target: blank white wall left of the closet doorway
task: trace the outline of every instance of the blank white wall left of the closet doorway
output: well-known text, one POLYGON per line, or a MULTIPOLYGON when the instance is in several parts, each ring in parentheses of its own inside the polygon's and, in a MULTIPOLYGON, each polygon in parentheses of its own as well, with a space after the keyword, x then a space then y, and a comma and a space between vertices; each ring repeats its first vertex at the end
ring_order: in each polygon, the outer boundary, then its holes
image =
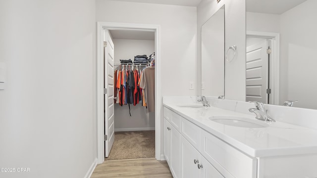
POLYGON ((94 0, 1 0, 5 178, 83 178, 97 157, 94 0))

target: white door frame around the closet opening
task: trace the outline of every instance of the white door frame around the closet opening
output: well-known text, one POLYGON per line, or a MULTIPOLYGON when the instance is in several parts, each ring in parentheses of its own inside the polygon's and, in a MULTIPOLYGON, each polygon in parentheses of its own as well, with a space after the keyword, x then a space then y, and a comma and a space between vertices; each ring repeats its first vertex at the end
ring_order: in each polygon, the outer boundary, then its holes
MULTIPOLYGON (((105 160, 104 153, 104 30, 133 30, 155 32, 155 158, 161 159, 161 91, 160 91, 160 26, 117 22, 97 22, 97 163, 105 160)), ((107 69, 105 69, 107 70, 107 69)))

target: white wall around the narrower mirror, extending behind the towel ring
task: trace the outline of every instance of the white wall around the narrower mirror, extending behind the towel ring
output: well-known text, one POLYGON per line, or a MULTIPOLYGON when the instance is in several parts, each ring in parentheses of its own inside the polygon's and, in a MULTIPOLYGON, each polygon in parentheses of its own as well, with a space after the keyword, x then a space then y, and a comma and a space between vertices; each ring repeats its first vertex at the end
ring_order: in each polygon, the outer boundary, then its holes
MULTIPOLYGON (((236 58, 225 63, 225 98, 245 100, 246 4, 245 0, 202 0, 197 7, 197 71, 201 71, 201 26, 225 4, 225 50, 237 45, 236 58)), ((201 77, 197 81, 200 85, 201 77)), ((198 93, 201 91, 198 90, 198 93)))

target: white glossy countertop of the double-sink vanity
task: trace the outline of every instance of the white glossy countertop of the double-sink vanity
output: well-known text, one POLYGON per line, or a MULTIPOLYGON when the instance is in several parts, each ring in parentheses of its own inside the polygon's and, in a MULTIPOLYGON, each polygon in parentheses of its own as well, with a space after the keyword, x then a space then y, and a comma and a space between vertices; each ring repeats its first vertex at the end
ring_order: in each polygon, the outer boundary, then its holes
POLYGON ((255 119, 255 115, 212 106, 202 108, 178 107, 178 105, 184 104, 187 103, 163 103, 165 107, 252 157, 317 153, 317 130, 279 121, 269 123, 269 126, 265 128, 228 126, 208 118, 223 115, 255 119))

